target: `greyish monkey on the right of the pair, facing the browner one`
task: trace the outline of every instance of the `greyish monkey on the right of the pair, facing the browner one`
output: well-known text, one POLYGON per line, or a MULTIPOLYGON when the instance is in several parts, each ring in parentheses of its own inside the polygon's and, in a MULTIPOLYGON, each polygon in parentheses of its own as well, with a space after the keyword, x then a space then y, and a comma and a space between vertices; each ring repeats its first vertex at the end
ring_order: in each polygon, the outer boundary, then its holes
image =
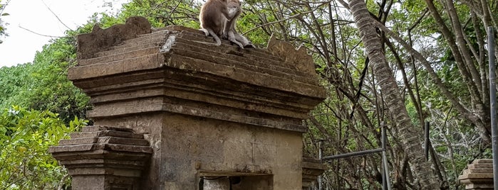
POLYGON ((247 38, 244 37, 244 35, 237 33, 237 30, 235 30, 235 24, 237 18, 239 18, 240 14, 242 13, 242 7, 240 1, 228 0, 227 6, 229 10, 229 16, 231 17, 230 20, 227 21, 226 26, 224 27, 223 38, 228 38, 228 40, 230 40, 231 42, 237 41, 238 43, 241 43, 242 46, 237 43, 236 44, 239 45, 242 49, 244 49, 244 47, 256 48, 251 43, 251 41, 247 40, 247 38))

